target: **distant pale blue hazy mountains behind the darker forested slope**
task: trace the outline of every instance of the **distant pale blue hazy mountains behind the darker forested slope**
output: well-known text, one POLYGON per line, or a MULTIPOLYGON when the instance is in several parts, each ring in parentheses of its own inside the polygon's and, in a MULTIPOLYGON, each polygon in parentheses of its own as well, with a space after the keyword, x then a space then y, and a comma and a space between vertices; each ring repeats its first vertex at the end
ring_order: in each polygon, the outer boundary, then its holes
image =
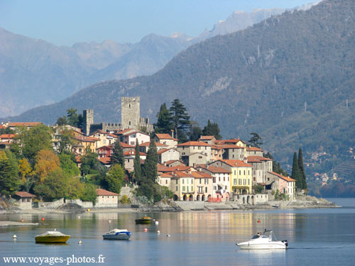
POLYGON ((183 33, 151 34, 139 43, 106 40, 58 47, 0 28, 0 117, 60 101, 103 80, 153 74, 194 43, 239 31, 283 11, 236 11, 195 38, 183 33))

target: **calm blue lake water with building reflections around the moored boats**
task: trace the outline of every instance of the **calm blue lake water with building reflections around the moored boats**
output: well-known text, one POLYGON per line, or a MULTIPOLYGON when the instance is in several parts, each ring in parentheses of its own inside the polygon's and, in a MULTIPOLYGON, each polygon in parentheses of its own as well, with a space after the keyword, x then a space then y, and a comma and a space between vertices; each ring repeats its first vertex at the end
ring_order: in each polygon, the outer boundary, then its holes
MULTIPOLYGON (((0 220, 41 222, 44 225, 0 228, 0 265, 4 257, 105 257, 104 263, 70 265, 355 265, 355 199, 330 199, 344 208, 272 211, 195 211, 179 213, 84 213, 0 215, 0 220), (158 226, 136 225, 148 215, 158 226), (261 223, 257 221, 260 219, 261 223), (111 228, 133 232, 129 241, 102 240, 111 228), (67 245, 35 244, 39 233, 57 228, 72 235, 67 245), (148 228, 148 232, 143 229, 148 228), (240 250, 263 228, 273 229, 288 250, 240 250), (156 231, 161 233, 158 235, 156 231), (16 233, 17 240, 12 236, 16 233), (166 235, 170 234, 170 237, 166 235), (79 245, 78 241, 82 240, 79 245)), ((80 262, 80 260, 77 260, 80 262)), ((43 263, 48 265, 48 263, 43 263)), ((54 265, 65 265, 56 263, 54 265)))

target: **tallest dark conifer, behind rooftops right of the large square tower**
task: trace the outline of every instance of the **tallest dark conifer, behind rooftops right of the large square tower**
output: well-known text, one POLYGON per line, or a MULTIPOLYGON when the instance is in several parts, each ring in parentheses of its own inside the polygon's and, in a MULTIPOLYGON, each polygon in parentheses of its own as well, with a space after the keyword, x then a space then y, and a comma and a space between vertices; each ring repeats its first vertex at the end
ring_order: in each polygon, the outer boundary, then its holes
POLYGON ((187 132, 190 129, 190 116, 186 112, 186 108, 180 103, 179 99, 172 101, 170 107, 170 116, 173 119, 173 129, 176 137, 180 142, 187 141, 187 132))

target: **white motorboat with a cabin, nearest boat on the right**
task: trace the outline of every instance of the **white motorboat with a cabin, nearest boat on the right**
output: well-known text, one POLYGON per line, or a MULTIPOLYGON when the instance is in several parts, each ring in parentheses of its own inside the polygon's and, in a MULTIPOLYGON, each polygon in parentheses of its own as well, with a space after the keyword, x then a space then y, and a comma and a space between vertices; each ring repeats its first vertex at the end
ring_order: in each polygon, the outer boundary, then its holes
POLYGON ((273 240, 273 231, 266 230, 257 233, 251 240, 236 243, 242 250, 268 250, 268 249, 287 249, 288 240, 273 240))

